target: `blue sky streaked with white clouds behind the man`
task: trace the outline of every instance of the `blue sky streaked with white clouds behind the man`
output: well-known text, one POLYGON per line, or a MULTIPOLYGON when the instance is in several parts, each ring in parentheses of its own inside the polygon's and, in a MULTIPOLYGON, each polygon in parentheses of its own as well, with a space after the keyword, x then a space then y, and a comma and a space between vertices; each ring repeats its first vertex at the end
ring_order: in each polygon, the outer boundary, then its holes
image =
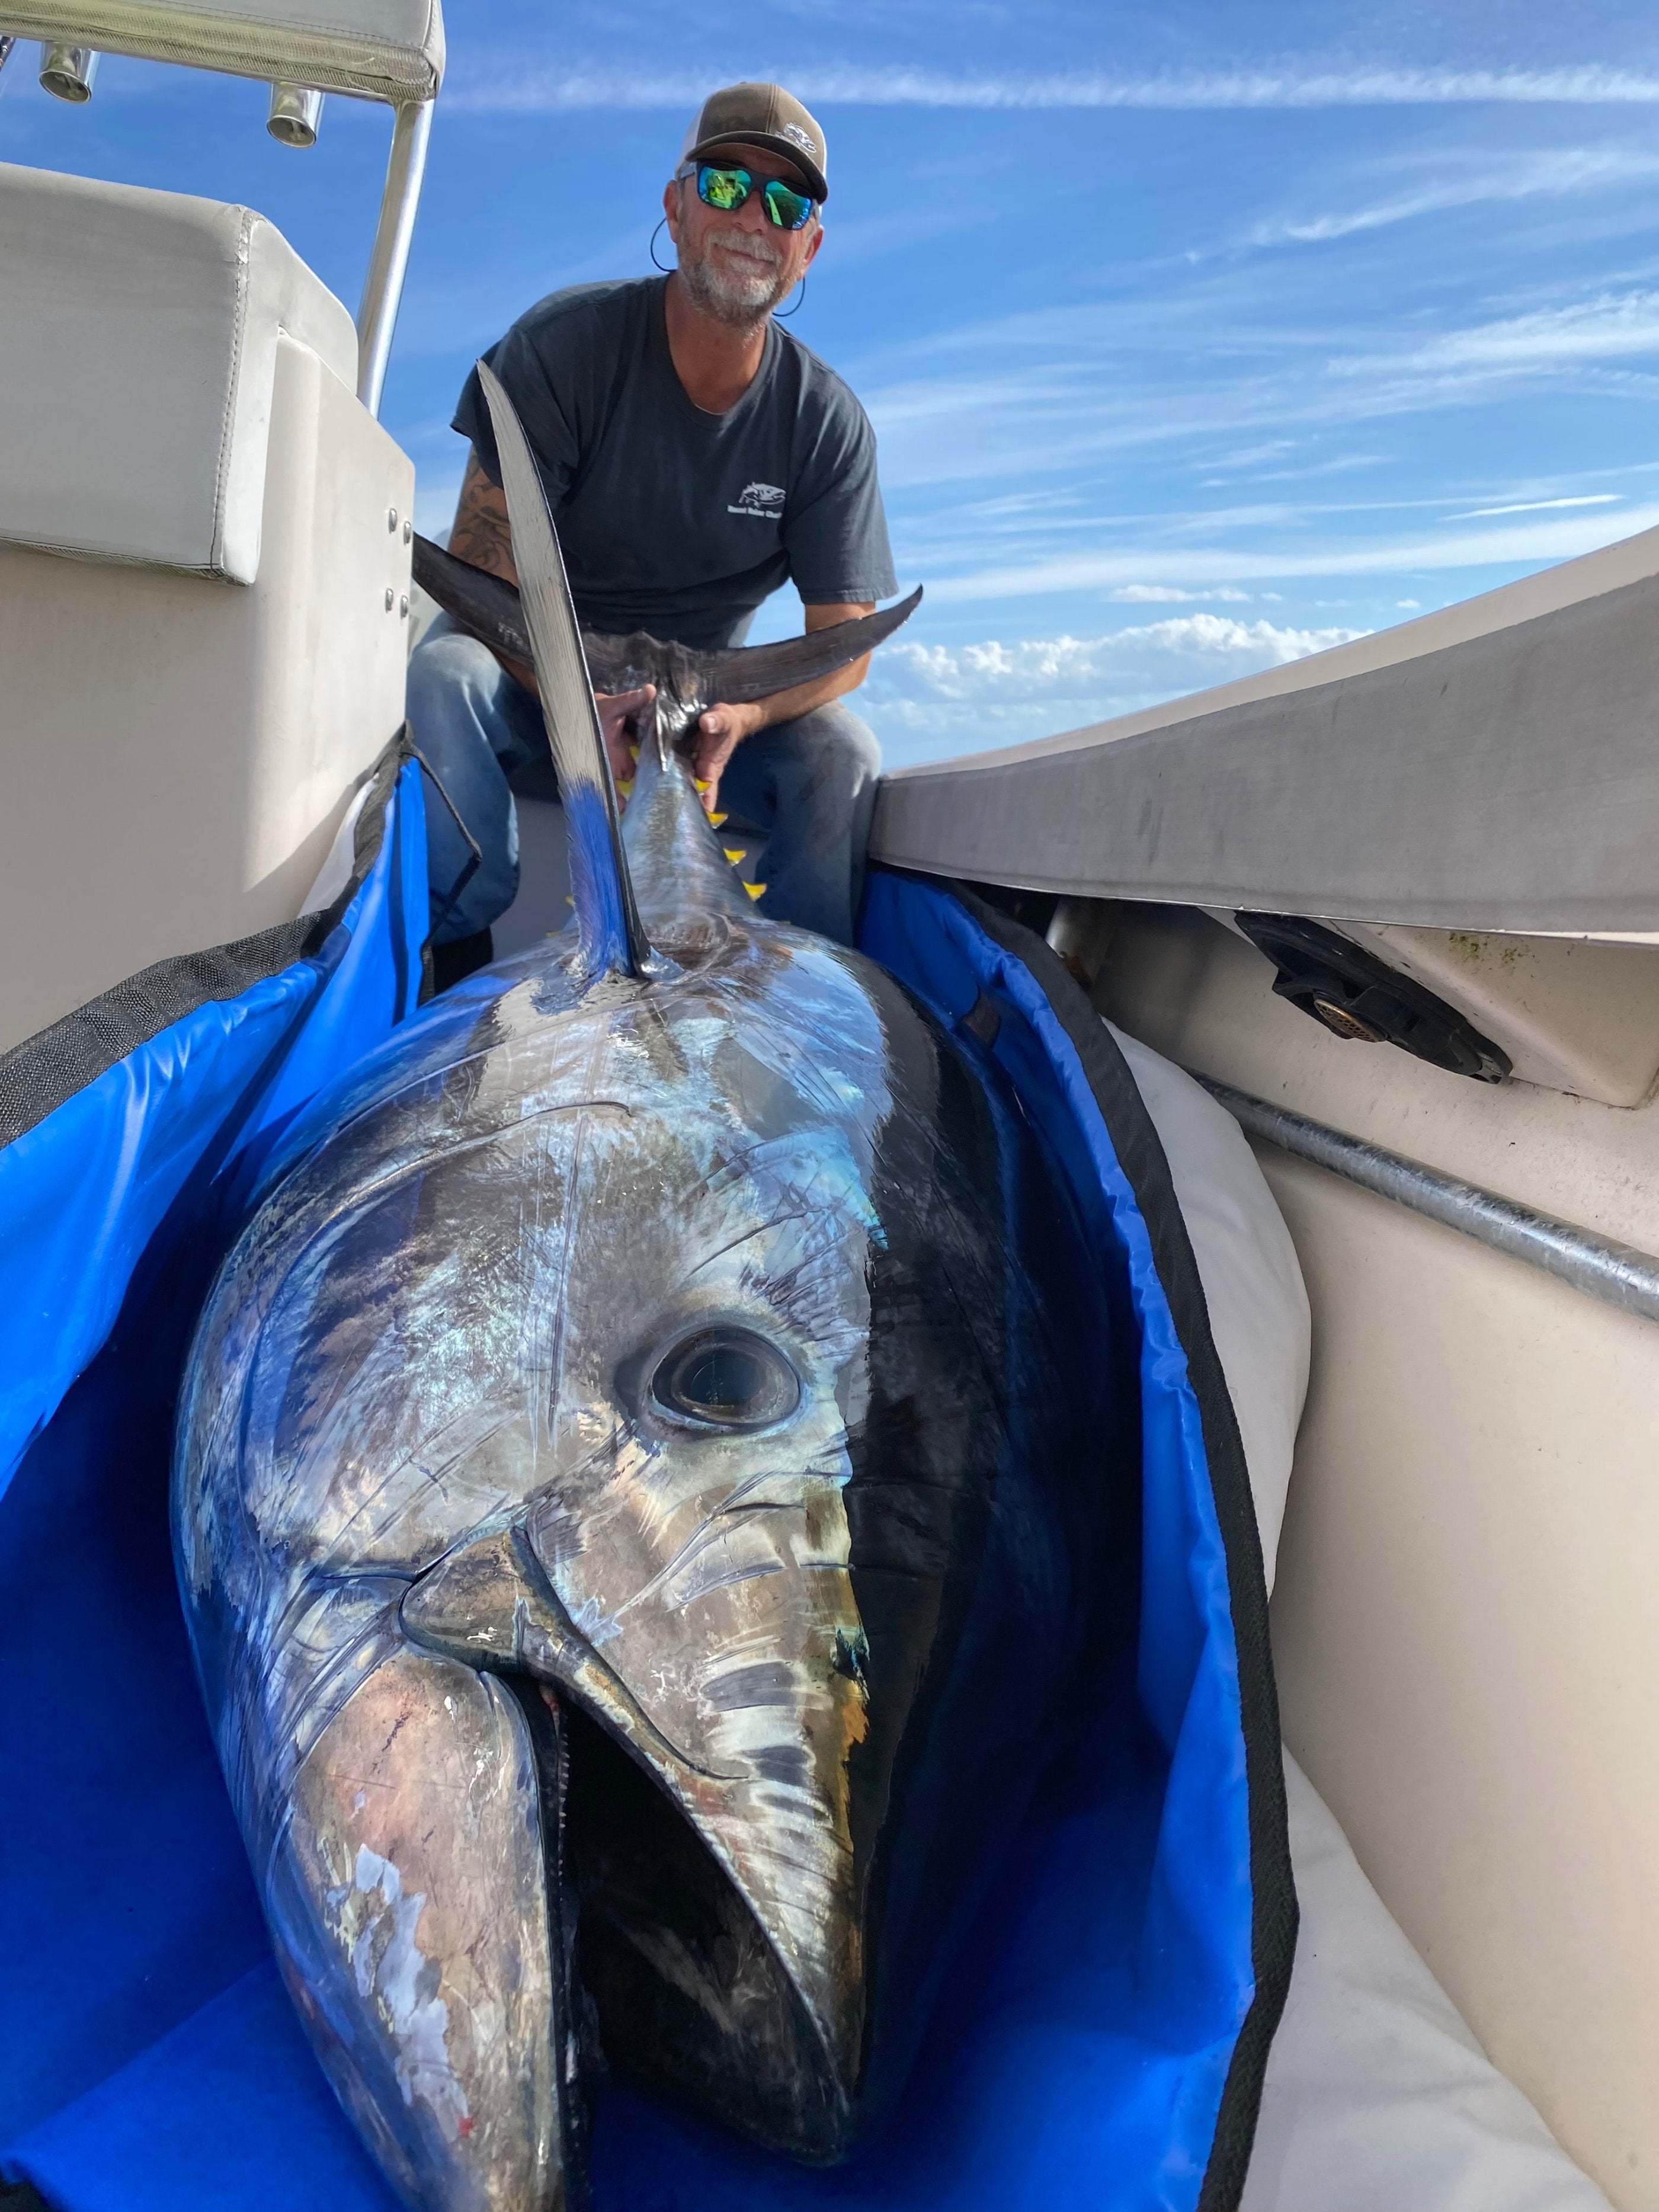
MULTIPOLYGON (((1659 524, 1659 11, 1460 0, 449 7, 383 418, 447 520, 473 354, 648 268, 699 95, 830 135, 794 330, 880 436, 927 604, 889 761, 1073 728, 1659 524)), ((243 199, 356 303, 389 119, 111 62, 0 75, 0 159, 243 199)), ((22 64, 22 66, 20 66, 22 64)), ((754 635, 799 626, 774 602, 754 635)))

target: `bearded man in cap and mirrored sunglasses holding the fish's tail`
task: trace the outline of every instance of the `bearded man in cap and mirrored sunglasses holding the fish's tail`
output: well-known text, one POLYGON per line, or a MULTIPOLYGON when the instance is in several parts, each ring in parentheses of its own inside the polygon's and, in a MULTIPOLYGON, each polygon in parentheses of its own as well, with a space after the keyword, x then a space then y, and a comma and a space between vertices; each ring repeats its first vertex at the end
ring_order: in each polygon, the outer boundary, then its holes
MULTIPOLYGON (((898 588, 869 420, 772 321, 823 246, 825 197, 823 131, 801 102, 776 84, 728 86, 703 102, 664 188, 677 270, 553 292, 484 356, 535 451, 584 628, 730 646, 785 580, 807 630, 898 588)), ((456 429, 471 453, 449 549, 518 582, 476 374, 456 429)), ((867 666, 712 706, 695 739, 703 805, 728 816, 728 841, 765 838, 761 911, 843 945, 880 757, 841 697, 867 666)), ((489 925, 518 889, 511 785, 551 774, 533 684, 447 619, 409 661, 445 978, 489 958, 489 925)), ((599 701, 619 781, 650 697, 599 701)))

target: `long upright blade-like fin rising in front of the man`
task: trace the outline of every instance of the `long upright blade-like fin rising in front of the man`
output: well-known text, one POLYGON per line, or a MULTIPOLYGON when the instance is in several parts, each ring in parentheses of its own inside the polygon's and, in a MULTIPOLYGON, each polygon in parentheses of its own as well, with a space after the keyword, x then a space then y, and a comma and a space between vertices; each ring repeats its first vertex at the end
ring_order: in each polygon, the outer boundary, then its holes
POLYGON ((495 427, 524 628, 535 659, 542 719, 564 803, 577 969, 584 975, 604 975, 613 969, 648 975, 653 971, 650 940, 639 922, 628 880, 599 710, 593 703, 582 633, 575 624, 571 584, 564 575, 564 555, 553 531, 542 473, 513 403, 482 361, 478 363, 478 380, 484 387, 489 420, 495 427))

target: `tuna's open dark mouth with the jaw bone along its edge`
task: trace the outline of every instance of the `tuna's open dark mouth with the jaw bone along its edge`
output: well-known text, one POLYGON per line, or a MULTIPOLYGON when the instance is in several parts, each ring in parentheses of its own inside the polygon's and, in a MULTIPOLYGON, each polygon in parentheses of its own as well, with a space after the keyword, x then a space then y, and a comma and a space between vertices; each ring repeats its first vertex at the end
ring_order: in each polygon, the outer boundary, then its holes
MULTIPOLYGON (((750 1776, 699 1761, 639 1705, 560 1604, 524 1533, 473 1537, 403 1599, 405 1635, 511 1681, 538 1741, 549 1885, 575 1898, 555 2013, 586 2022, 606 2066, 810 2163, 852 2143, 863 1978, 792 1971, 765 1896, 699 1812, 750 1776), (818 1984, 810 2000, 805 1980, 818 1984)), ((557 1898, 549 1900, 557 1907, 557 1898)), ((825 1960, 858 1960, 858 1929, 825 1916, 825 1960)), ((818 1962, 823 1964, 823 1962, 818 1962)), ((557 1971, 557 1969, 555 1969, 557 1971)), ((588 2053, 593 2055, 593 2053, 588 2053)))

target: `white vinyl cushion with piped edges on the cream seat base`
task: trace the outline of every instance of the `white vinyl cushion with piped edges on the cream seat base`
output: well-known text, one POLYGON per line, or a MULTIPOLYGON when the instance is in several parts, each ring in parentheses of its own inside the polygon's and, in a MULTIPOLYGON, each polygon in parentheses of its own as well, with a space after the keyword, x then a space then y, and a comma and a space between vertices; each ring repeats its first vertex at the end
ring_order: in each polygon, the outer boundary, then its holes
POLYGON ((252 584, 276 334, 356 330, 263 215, 0 164, 0 538, 252 584))

